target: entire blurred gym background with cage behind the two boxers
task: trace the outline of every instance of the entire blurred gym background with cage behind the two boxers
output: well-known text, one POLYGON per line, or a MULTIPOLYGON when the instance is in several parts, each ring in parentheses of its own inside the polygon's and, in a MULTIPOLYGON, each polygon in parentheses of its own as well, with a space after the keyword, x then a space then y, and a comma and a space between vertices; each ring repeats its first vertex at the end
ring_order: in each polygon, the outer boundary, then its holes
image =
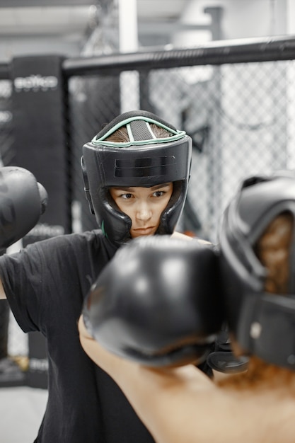
MULTIPOLYGON (((50 195, 8 252, 96 227, 81 146, 135 108, 192 136, 178 229, 216 243, 243 178, 295 166, 294 58, 293 0, 0 0, 0 164, 30 169, 50 195)), ((19 330, 5 301, 0 325, 0 439, 32 442, 45 343, 19 330)))

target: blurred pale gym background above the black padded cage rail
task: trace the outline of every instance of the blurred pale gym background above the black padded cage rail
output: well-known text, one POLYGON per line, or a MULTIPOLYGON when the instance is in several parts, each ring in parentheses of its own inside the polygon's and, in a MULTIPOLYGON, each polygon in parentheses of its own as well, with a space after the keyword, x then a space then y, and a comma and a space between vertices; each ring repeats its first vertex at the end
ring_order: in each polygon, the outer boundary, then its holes
POLYGON ((136 39, 139 48, 190 47, 293 31, 292 0, 0 0, 2 60, 16 54, 108 53, 123 40, 134 45, 136 39), (206 8, 221 8, 220 35, 210 28, 206 8), (129 30, 121 41, 120 21, 127 21, 129 30))

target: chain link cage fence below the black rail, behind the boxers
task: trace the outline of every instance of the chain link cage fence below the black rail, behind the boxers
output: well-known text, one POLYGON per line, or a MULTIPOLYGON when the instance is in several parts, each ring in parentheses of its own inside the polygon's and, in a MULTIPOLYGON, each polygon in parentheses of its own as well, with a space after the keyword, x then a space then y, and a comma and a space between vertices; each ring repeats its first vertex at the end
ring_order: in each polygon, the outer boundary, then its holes
MULTIPOLYGON (((110 57, 110 68, 111 63, 110 57)), ((129 70, 126 62, 117 74, 98 69, 95 75, 70 77, 69 142, 81 229, 95 226, 84 210, 81 146, 138 103, 192 136, 190 186, 178 229, 216 243, 224 209, 243 178, 295 167, 294 69, 293 60, 180 67, 166 62, 165 69, 151 63, 144 71, 129 70)))

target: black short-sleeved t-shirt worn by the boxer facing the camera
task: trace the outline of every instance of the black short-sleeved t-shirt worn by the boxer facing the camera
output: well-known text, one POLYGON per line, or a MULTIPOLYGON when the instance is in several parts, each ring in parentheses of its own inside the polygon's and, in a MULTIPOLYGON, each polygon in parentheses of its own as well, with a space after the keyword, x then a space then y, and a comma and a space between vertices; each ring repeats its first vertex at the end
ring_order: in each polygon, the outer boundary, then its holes
POLYGON ((47 338, 48 402, 35 442, 151 443, 117 384, 83 351, 77 322, 83 300, 115 246, 100 231, 33 243, 0 257, 16 321, 47 338))

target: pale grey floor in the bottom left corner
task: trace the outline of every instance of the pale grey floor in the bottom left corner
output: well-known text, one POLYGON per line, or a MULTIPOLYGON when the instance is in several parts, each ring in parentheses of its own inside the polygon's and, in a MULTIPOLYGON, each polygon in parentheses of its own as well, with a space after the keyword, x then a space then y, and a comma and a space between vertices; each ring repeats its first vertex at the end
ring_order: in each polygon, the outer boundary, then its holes
POLYGON ((33 443, 46 402, 45 389, 0 388, 0 442, 33 443))

